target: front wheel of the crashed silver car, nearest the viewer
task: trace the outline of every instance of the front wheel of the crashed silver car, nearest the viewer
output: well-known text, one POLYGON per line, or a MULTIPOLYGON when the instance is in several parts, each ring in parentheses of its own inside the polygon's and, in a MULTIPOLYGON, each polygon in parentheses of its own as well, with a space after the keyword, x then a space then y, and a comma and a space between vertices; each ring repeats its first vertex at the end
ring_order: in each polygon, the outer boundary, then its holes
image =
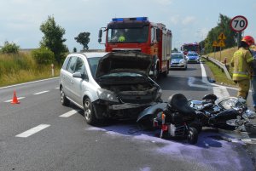
POLYGON ((95 125, 98 123, 95 111, 89 98, 85 98, 84 100, 84 118, 86 123, 89 123, 90 125, 95 125))

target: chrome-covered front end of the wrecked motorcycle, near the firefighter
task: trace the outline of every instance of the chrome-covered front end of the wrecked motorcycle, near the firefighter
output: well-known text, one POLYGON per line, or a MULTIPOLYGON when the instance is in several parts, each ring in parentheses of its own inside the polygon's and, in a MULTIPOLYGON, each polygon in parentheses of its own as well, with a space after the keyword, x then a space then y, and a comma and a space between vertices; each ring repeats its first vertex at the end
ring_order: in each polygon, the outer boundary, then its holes
POLYGON ((246 100, 241 97, 219 99, 215 94, 207 94, 202 100, 189 100, 202 126, 223 129, 245 129, 256 134, 256 125, 251 122, 255 112, 247 108, 246 100))

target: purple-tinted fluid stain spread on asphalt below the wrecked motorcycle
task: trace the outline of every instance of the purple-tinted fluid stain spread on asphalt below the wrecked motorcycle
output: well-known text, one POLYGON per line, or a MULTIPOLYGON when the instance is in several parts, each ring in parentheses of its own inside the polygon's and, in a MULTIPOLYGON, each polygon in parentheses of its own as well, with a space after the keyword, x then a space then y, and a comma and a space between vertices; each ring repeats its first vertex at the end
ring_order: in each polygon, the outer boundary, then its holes
MULTIPOLYGON (((242 141, 226 134, 202 131, 197 144, 189 145, 186 140, 160 139, 156 131, 143 131, 134 124, 115 124, 108 127, 90 127, 86 130, 102 131, 113 136, 127 136, 132 140, 160 143, 152 151, 176 157, 179 160, 201 163, 217 170, 254 170, 253 162, 244 150, 242 141), (237 140, 236 140, 237 141, 237 140)), ((147 170, 147 169, 146 169, 147 170)))

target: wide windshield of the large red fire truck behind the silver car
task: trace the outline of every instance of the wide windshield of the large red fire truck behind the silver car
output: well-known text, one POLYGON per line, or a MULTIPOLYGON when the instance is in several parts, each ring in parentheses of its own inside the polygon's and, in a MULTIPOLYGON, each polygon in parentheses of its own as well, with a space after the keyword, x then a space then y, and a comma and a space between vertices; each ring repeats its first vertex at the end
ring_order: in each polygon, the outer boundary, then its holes
POLYGON ((148 26, 108 29, 108 43, 146 43, 147 41, 148 26))

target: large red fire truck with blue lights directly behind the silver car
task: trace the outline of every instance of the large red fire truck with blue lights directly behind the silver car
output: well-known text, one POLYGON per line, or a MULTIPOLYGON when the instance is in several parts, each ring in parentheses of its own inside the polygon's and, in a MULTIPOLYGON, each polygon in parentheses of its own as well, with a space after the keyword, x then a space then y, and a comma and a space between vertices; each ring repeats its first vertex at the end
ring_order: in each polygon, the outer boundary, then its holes
POLYGON ((113 18, 107 27, 99 31, 99 43, 102 43, 102 31, 106 31, 105 50, 139 51, 151 54, 154 64, 150 75, 155 79, 160 73, 167 76, 172 50, 172 31, 161 23, 153 23, 148 17, 113 18))

